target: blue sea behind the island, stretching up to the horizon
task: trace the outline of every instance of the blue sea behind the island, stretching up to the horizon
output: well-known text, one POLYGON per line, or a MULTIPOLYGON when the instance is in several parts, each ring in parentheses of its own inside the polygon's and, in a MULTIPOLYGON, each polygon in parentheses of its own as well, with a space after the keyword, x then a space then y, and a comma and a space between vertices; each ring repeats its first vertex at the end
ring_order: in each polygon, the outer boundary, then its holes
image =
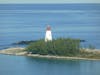
POLYGON ((0 49, 12 43, 53 38, 85 40, 100 49, 100 4, 0 4, 0 49))

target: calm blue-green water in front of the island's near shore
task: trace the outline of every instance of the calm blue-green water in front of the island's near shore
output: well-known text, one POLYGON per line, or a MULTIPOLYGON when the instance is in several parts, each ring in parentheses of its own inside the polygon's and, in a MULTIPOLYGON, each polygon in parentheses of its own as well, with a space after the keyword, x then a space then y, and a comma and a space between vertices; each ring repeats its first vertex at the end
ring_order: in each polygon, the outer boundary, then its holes
POLYGON ((0 75, 100 75, 100 61, 0 55, 0 75))

